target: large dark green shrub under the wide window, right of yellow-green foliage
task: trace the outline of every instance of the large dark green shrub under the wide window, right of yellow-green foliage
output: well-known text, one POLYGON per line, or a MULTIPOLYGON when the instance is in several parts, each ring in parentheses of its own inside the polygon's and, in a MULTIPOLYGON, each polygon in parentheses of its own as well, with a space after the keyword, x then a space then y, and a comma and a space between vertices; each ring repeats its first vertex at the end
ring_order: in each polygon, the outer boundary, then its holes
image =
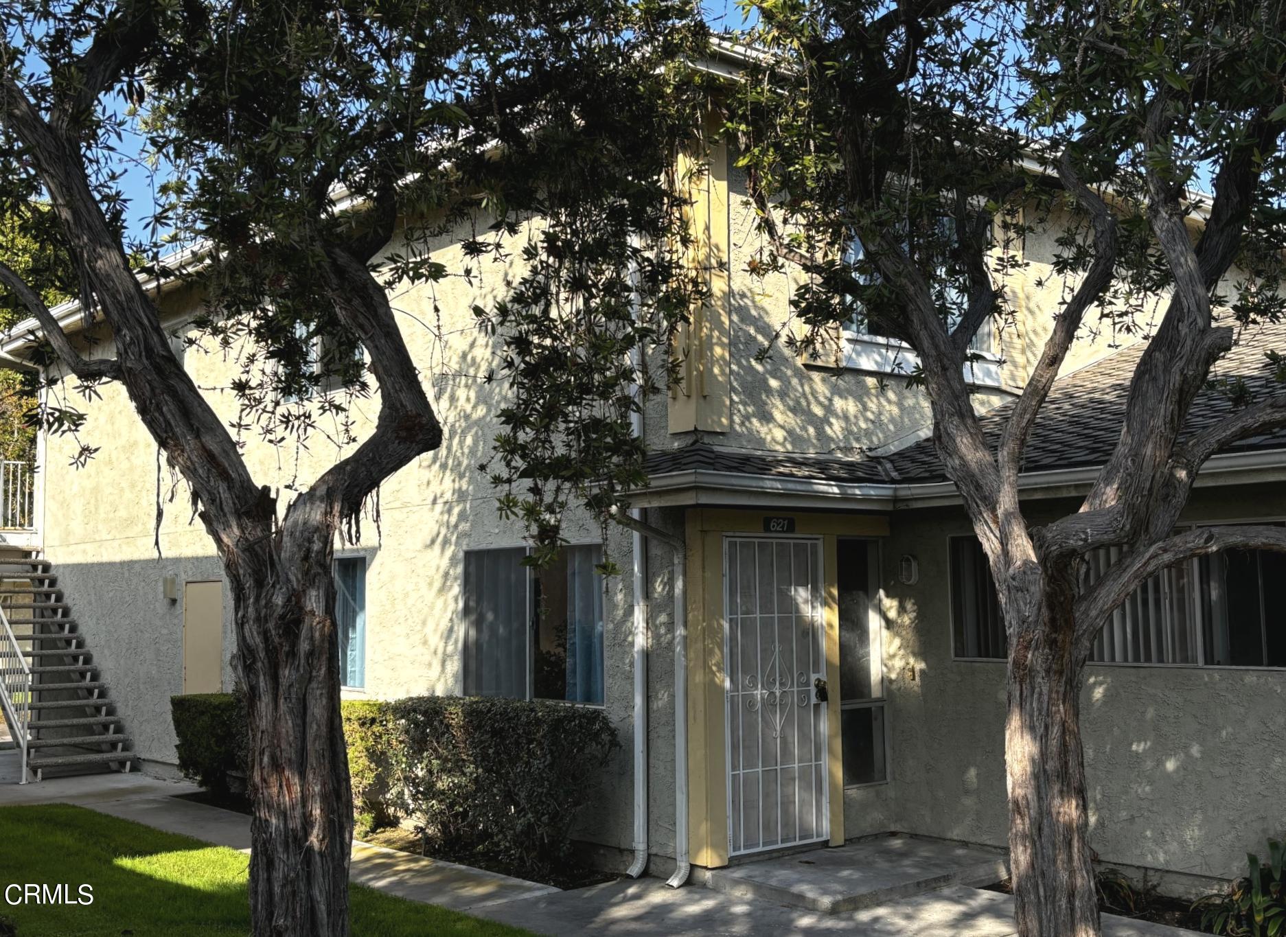
POLYGON ((399 784, 431 851, 541 874, 567 857, 589 780, 617 745, 602 709, 413 697, 391 704, 399 784))

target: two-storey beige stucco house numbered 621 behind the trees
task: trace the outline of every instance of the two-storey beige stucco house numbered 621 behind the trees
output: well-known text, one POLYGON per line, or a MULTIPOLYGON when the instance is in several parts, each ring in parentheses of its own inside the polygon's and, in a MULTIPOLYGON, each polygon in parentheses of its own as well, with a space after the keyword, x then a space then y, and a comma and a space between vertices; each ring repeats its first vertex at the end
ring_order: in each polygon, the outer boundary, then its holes
MULTIPOLYGON (((493 339, 469 308, 502 287, 500 272, 440 284, 435 330, 424 289, 394 292, 446 438, 382 487, 378 533, 368 524, 360 544, 338 548, 345 693, 603 707, 626 744, 586 778, 597 793, 581 835, 615 868, 682 878, 689 864, 889 830, 1003 846, 1003 629, 927 440, 926 401, 905 379, 913 355, 855 317, 833 337, 833 360, 783 347, 757 356, 788 321, 796 272, 747 272, 746 180, 723 143, 707 168, 693 213, 711 294, 683 335, 682 388, 639 419, 651 452, 651 485, 634 501, 642 524, 604 536, 574 523, 561 562, 538 575, 476 469, 505 388, 460 377, 486 371, 493 339), (626 575, 599 577, 604 553, 626 575)), ((1061 288, 1052 236, 1007 249, 1028 263, 1006 283, 1017 316, 970 365, 993 433, 1061 288)), ((460 262, 454 245, 436 260, 460 262)), ((233 355, 184 341, 199 294, 157 289, 175 353, 233 419, 233 355)), ((77 308, 57 312, 85 353, 112 355, 111 335, 77 308)), ((33 334, 24 324, 0 351, 30 362, 33 334)), ((1143 342, 1106 328, 1078 341, 1029 447, 1031 517, 1066 512, 1088 488, 1143 342)), ((1283 344, 1286 326, 1242 334, 1219 373, 1267 382, 1262 351, 1283 344)), ((44 767, 172 770, 170 697, 235 681, 230 603, 181 479, 121 387, 75 405, 87 420, 76 437, 41 440, 28 515, 3 533, 5 569, 45 607, 26 617, 64 634, 33 658, 58 675, 37 695, 58 703, 41 717, 82 720, 86 734, 120 726, 129 742, 44 767), (81 445, 98 452, 77 468, 81 445)), ((1211 392, 1195 419, 1229 406, 1211 392)), ((359 436, 372 414, 358 402, 359 436)), ((246 458, 256 479, 287 488, 334 451, 247 438, 246 458)), ((1240 445, 1210 460, 1186 523, 1276 523, 1283 481, 1286 437, 1240 445)), ((1105 630, 1083 701, 1092 842, 1105 861, 1228 877, 1281 832, 1286 754, 1265 742, 1286 731, 1283 572, 1286 558, 1271 554, 1193 562, 1148 582, 1105 630)))

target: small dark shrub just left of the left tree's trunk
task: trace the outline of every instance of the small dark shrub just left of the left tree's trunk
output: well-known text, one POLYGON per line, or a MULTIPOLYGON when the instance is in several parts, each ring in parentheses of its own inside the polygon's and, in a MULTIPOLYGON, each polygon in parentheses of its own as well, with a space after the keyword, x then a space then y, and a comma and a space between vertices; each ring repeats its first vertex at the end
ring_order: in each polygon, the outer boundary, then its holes
POLYGON ((246 776, 249 727, 238 693, 194 693, 170 697, 170 716, 179 736, 179 769, 207 790, 233 792, 246 776))

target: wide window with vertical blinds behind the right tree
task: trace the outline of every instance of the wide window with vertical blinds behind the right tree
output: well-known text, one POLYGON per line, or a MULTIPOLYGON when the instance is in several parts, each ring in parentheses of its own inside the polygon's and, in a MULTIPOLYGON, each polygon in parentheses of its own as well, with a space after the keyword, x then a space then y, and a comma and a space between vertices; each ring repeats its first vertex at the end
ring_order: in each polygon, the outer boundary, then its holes
MULTIPOLYGON (((1118 548, 1088 558, 1094 582, 1118 548)), ((983 546, 950 540, 955 657, 1003 659, 1004 626, 983 546)), ((1118 608, 1094 639, 1097 663, 1286 667, 1286 555, 1226 550, 1163 569, 1118 608)))

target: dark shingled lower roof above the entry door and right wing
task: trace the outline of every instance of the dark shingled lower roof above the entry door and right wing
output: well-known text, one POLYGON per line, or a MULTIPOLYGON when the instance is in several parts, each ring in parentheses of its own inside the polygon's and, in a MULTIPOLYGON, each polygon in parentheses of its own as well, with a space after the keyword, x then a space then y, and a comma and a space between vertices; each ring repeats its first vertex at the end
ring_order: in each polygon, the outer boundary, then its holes
MULTIPOLYGON (((1134 342, 1055 382, 1026 446, 1022 465, 1025 476, 1093 470, 1107 460, 1120 436, 1134 368, 1146 347, 1146 341, 1134 342)), ((1274 350, 1286 351, 1286 323, 1247 329, 1238 335, 1233 350, 1215 365, 1213 377, 1238 379, 1256 398, 1281 393, 1283 388, 1274 380, 1273 368, 1265 357, 1265 352, 1274 350)), ((1011 401, 980 418, 983 432, 993 449, 1013 406, 1015 402, 1011 401)), ((1192 404, 1184 437, 1217 424, 1236 409, 1237 405, 1218 387, 1202 389, 1192 404)), ((1258 468, 1268 463, 1286 467, 1286 429, 1244 440, 1222 450, 1219 455, 1233 454, 1264 454, 1267 460, 1255 460, 1258 468), (1280 452, 1281 458, 1268 456, 1272 452, 1280 452)), ((653 486, 661 487, 667 487, 666 477, 678 481, 679 476, 696 478, 696 474, 706 473, 705 477, 709 478, 714 473, 769 482, 817 482, 832 488, 853 486, 854 496, 860 497, 863 491, 869 491, 895 500, 913 499, 917 486, 940 488, 943 483, 949 483, 931 440, 910 443, 882 456, 860 455, 851 459, 732 450, 697 442, 683 449, 651 452, 647 470, 653 486)), ((779 490, 781 486, 777 487, 779 490)), ((835 490, 835 495, 840 494, 835 490)))

